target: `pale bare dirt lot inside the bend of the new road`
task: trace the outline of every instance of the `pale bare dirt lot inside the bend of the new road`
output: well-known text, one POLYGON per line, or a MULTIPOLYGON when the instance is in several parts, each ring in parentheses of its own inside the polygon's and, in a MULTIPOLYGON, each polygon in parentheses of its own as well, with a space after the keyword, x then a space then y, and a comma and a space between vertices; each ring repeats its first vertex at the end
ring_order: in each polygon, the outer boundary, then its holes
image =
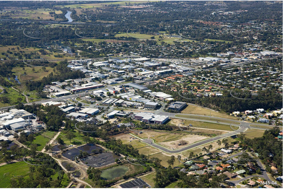
POLYGON ((209 138, 209 137, 202 136, 202 135, 190 135, 189 134, 189 135, 184 135, 184 136, 178 137, 176 139, 172 139, 172 140, 162 142, 162 143, 159 143, 159 144, 162 145, 162 146, 165 146, 169 149, 171 149, 171 148, 177 149, 177 148, 181 148, 183 146, 187 146, 189 144, 192 144, 192 143, 195 143, 197 141, 204 140, 204 139, 207 139, 207 138, 209 138), (185 141, 186 144, 178 145, 182 141, 185 141))

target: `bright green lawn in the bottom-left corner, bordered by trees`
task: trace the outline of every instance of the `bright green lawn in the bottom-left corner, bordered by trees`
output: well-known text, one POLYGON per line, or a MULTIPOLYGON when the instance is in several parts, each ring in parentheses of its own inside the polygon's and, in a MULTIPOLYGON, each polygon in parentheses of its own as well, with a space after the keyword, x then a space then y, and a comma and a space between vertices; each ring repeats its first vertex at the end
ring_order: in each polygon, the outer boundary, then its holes
POLYGON ((23 161, 0 166, 0 187, 11 188, 10 179, 14 176, 29 178, 29 165, 23 161))

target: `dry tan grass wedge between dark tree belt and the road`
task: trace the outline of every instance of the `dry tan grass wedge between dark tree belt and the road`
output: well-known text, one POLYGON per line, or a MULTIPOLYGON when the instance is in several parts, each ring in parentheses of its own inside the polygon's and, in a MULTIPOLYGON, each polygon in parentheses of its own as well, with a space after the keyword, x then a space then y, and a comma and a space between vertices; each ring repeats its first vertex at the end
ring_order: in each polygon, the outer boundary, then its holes
POLYGON ((239 118, 235 116, 230 116, 225 113, 219 113, 219 112, 214 112, 206 108, 198 107, 198 106, 193 106, 193 105, 188 105, 181 113, 191 113, 191 114, 198 114, 198 115, 205 115, 205 116, 215 116, 215 117, 222 117, 222 118, 228 118, 232 120, 239 120, 239 118))

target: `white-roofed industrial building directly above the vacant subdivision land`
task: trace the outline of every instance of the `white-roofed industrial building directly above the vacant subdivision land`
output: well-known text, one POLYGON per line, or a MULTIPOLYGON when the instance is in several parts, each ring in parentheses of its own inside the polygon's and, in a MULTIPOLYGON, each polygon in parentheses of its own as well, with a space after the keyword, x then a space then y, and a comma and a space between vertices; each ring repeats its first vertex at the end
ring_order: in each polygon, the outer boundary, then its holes
POLYGON ((135 119, 146 123, 164 124, 169 120, 169 116, 156 115, 151 112, 140 112, 135 115, 135 119))

